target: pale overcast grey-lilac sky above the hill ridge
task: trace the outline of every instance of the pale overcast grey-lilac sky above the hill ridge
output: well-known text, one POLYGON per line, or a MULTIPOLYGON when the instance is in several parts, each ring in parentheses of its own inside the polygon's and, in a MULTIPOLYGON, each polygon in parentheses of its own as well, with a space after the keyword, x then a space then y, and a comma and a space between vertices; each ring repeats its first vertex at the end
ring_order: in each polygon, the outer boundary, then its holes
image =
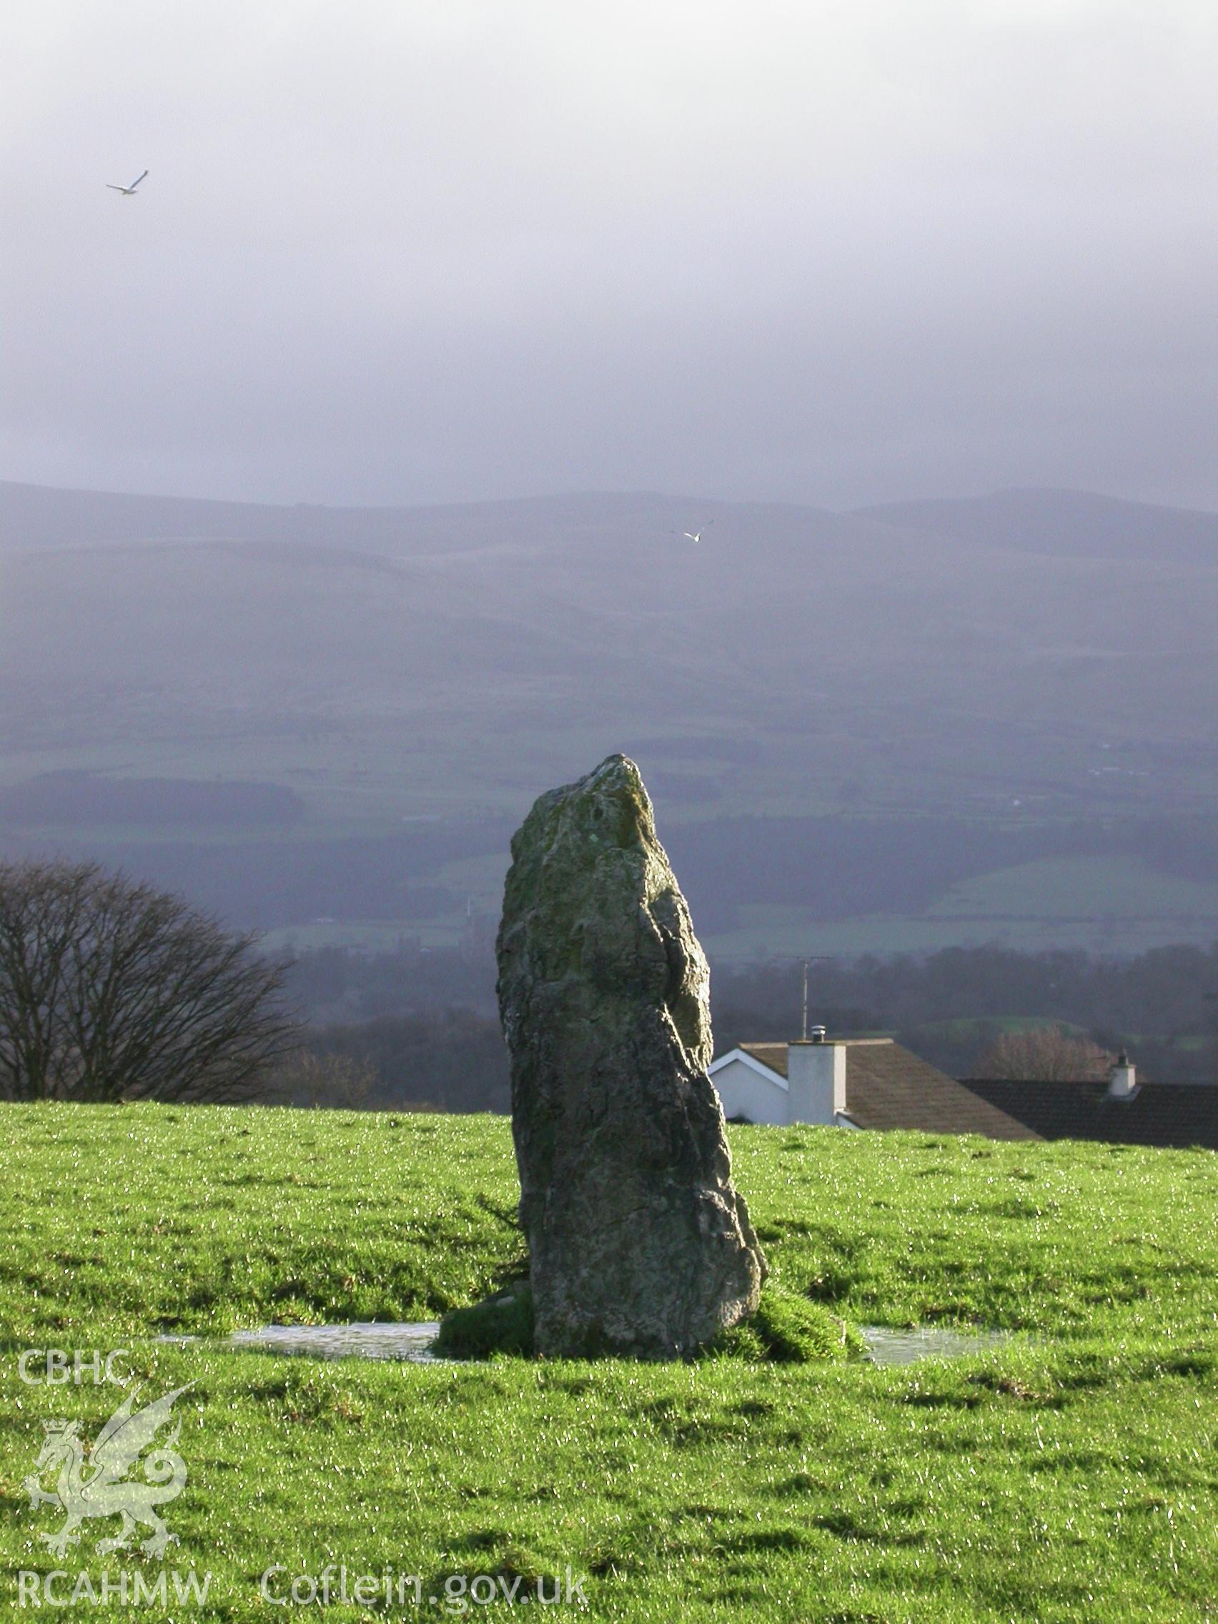
POLYGON ((1213 0, 39 0, 5 58, 5 477, 1218 508, 1213 0))

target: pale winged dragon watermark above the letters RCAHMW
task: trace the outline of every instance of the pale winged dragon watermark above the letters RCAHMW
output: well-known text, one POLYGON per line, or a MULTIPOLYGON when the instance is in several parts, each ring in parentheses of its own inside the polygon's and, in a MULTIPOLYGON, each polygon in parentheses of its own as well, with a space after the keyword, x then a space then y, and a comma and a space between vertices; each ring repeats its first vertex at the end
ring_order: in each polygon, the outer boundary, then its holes
POLYGON ((177 1538, 169 1533, 156 1507, 177 1499, 185 1488, 187 1466, 175 1449, 182 1419, 174 1421, 172 1432, 156 1449, 148 1445, 171 1421, 174 1400, 193 1385, 187 1382, 187 1387, 175 1387, 172 1393, 136 1410, 135 1415, 132 1408, 138 1392, 130 1392, 94 1439, 88 1465, 75 1421, 42 1423, 47 1437, 34 1471, 21 1488, 29 1494, 31 1507, 58 1505, 67 1512, 68 1520, 58 1533, 39 1535, 57 1557, 63 1559, 68 1546, 80 1541, 76 1530, 86 1517, 122 1517, 119 1533, 112 1540, 99 1540, 97 1551, 127 1549, 138 1523, 153 1530, 140 1541, 140 1549, 148 1556, 161 1556, 169 1541, 177 1538), (143 1466, 145 1483, 127 1479, 127 1473, 136 1463, 143 1466), (39 1481, 49 1471, 57 1473, 50 1492, 39 1481))

